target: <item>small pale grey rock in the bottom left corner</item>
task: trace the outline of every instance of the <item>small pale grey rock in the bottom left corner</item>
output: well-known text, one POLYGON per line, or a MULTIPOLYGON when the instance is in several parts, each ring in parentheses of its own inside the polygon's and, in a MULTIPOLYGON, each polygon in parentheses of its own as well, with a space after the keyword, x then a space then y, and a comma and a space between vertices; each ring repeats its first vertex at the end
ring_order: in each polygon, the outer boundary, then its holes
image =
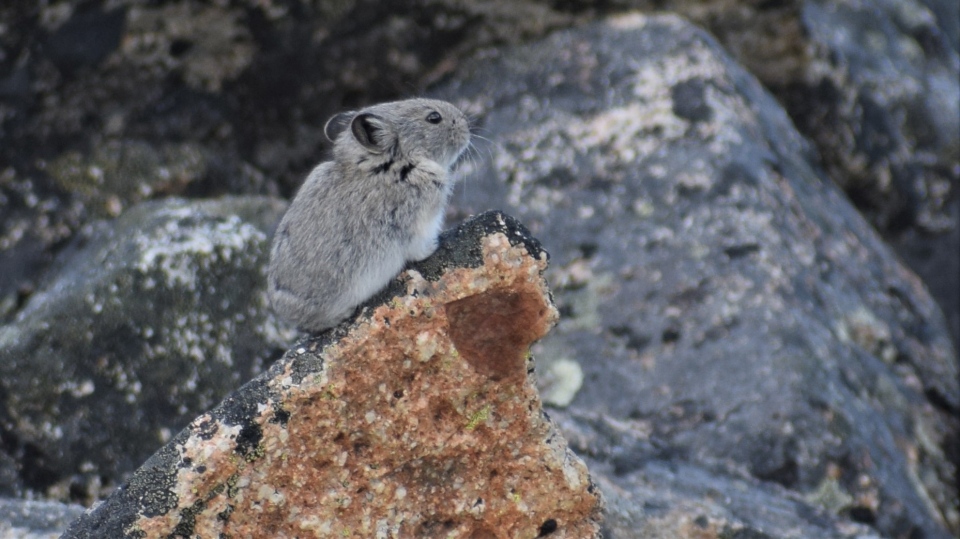
POLYGON ((0 539, 56 539, 83 511, 79 505, 0 498, 0 539))

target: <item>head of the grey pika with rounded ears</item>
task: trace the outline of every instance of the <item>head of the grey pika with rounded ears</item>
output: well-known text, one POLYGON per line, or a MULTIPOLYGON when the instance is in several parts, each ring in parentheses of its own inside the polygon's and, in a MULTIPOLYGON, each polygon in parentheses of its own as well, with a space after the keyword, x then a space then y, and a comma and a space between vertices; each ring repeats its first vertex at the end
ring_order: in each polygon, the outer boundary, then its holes
MULTIPOLYGON (((332 117, 324 134, 334 153, 366 152, 390 161, 433 161, 449 169, 470 143, 470 126, 457 107, 436 99, 383 103, 332 117)), ((346 155, 340 155, 346 154, 346 155)))

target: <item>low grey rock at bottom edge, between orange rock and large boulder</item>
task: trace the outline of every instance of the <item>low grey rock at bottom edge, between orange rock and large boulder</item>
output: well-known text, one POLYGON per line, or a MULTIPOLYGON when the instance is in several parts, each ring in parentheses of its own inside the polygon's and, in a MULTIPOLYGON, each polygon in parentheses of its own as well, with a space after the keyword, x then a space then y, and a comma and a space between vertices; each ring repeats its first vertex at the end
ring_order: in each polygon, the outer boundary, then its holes
POLYGON ((568 412, 554 416, 571 448, 606 457, 585 459, 604 494, 604 537, 886 537, 833 512, 833 504, 850 501, 836 481, 804 496, 746 475, 718 474, 671 454, 642 420, 572 415, 575 419, 568 412))

